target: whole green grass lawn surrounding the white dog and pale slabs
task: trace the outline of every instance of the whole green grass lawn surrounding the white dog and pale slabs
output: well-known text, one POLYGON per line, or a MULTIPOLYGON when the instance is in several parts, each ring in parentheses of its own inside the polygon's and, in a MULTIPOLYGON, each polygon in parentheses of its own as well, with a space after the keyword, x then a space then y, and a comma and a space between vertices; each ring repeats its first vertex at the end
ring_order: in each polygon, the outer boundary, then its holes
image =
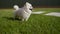
MULTIPOLYGON (((33 11, 54 12, 60 8, 35 8, 33 11)), ((13 20, 12 9, 0 9, 0 34, 60 34, 60 17, 31 15, 29 20, 13 20)))

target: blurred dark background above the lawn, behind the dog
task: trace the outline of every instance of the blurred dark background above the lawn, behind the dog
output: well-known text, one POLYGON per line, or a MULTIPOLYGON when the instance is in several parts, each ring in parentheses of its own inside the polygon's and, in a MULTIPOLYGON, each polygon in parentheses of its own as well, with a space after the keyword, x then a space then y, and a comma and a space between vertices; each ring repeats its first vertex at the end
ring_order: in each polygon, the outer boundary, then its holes
POLYGON ((29 2, 33 7, 57 7, 60 8, 60 0, 0 0, 0 8, 12 8, 13 5, 23 7, 25 2, 29 2))

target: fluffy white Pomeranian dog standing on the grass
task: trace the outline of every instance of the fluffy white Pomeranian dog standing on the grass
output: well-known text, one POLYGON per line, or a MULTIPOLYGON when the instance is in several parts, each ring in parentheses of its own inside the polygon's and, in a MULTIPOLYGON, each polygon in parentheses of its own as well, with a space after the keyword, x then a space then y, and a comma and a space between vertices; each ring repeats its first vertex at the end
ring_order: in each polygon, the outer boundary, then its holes
POLYGON ((14 19, 18 18, 22 19, 22 21, 27 21, 32 13, 33 7, 30 3, 26 2, 22 8, 19 8, 18 5, 14 5, 14 9, 14 19))

